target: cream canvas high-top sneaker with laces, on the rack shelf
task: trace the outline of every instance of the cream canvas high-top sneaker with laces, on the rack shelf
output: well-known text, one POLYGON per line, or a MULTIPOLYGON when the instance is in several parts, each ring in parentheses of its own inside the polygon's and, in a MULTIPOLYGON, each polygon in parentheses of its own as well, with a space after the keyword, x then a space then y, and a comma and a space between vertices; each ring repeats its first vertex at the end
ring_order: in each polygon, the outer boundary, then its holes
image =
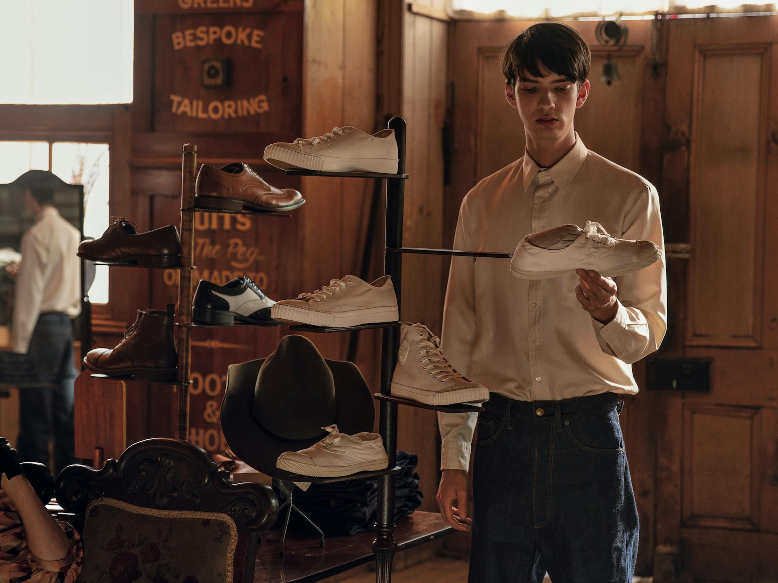
POLYGON ((423 324, 403 322, 391 394, 426 403, 453 405, 489 400, 489 389, 457 372, 440 351, 440 339, 423 324))

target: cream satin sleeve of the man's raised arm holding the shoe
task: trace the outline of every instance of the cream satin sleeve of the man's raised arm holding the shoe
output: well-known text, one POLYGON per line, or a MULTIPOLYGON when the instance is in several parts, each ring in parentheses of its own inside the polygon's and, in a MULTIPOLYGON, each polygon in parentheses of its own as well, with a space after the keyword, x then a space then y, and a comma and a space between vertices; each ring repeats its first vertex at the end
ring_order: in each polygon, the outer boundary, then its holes
POLYGON ((653 241, 662 250, 662 257, 645 269, 615 278, 619 311, 611 322, 603 324, 591 319, 602 351, 628 365, 656 351, 668 326, 659 196, 651 185, 644 185, 642 190, 626 212, 626 229, 619 238, 653 241))

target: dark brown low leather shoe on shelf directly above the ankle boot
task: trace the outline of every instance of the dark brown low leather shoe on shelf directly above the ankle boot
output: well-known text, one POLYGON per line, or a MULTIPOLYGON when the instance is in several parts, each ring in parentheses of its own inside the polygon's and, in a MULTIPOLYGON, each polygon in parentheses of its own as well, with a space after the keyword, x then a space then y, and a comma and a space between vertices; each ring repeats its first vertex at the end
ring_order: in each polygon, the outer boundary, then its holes
POLYGON ((100 239, 82 241, 79 257, 91 261, 170 267, 180 263, 181 243, 175 225, 138 233, 135 224, 113 217, 100 239))

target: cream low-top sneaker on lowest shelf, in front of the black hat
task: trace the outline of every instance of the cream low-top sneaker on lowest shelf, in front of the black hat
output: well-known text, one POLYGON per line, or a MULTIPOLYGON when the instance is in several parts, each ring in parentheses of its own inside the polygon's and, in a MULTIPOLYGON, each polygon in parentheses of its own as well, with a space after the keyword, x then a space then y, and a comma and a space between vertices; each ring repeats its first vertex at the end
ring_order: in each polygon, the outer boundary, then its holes
POLYGON ((363 431, 345 435, 338 431, 337 425, 322 429, 329 435, 321 442, 299 452, 283 452, 275 467, 303 476, 323 478, 387 469, 389 459, 377 433, 363 431))

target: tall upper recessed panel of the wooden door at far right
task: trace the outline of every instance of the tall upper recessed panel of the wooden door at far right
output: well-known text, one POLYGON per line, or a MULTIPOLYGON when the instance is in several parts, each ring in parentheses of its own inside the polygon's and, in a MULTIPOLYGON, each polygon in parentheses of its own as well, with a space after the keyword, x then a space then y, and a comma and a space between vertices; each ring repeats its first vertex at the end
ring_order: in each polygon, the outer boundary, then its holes
POLYGON ((746 46, 697 53, 689 344, 759 345, 761 293, 754 292, 762 289, 765 51, 746 46), (720 287, 722 273, 737 273, 738 286, 720 287))

